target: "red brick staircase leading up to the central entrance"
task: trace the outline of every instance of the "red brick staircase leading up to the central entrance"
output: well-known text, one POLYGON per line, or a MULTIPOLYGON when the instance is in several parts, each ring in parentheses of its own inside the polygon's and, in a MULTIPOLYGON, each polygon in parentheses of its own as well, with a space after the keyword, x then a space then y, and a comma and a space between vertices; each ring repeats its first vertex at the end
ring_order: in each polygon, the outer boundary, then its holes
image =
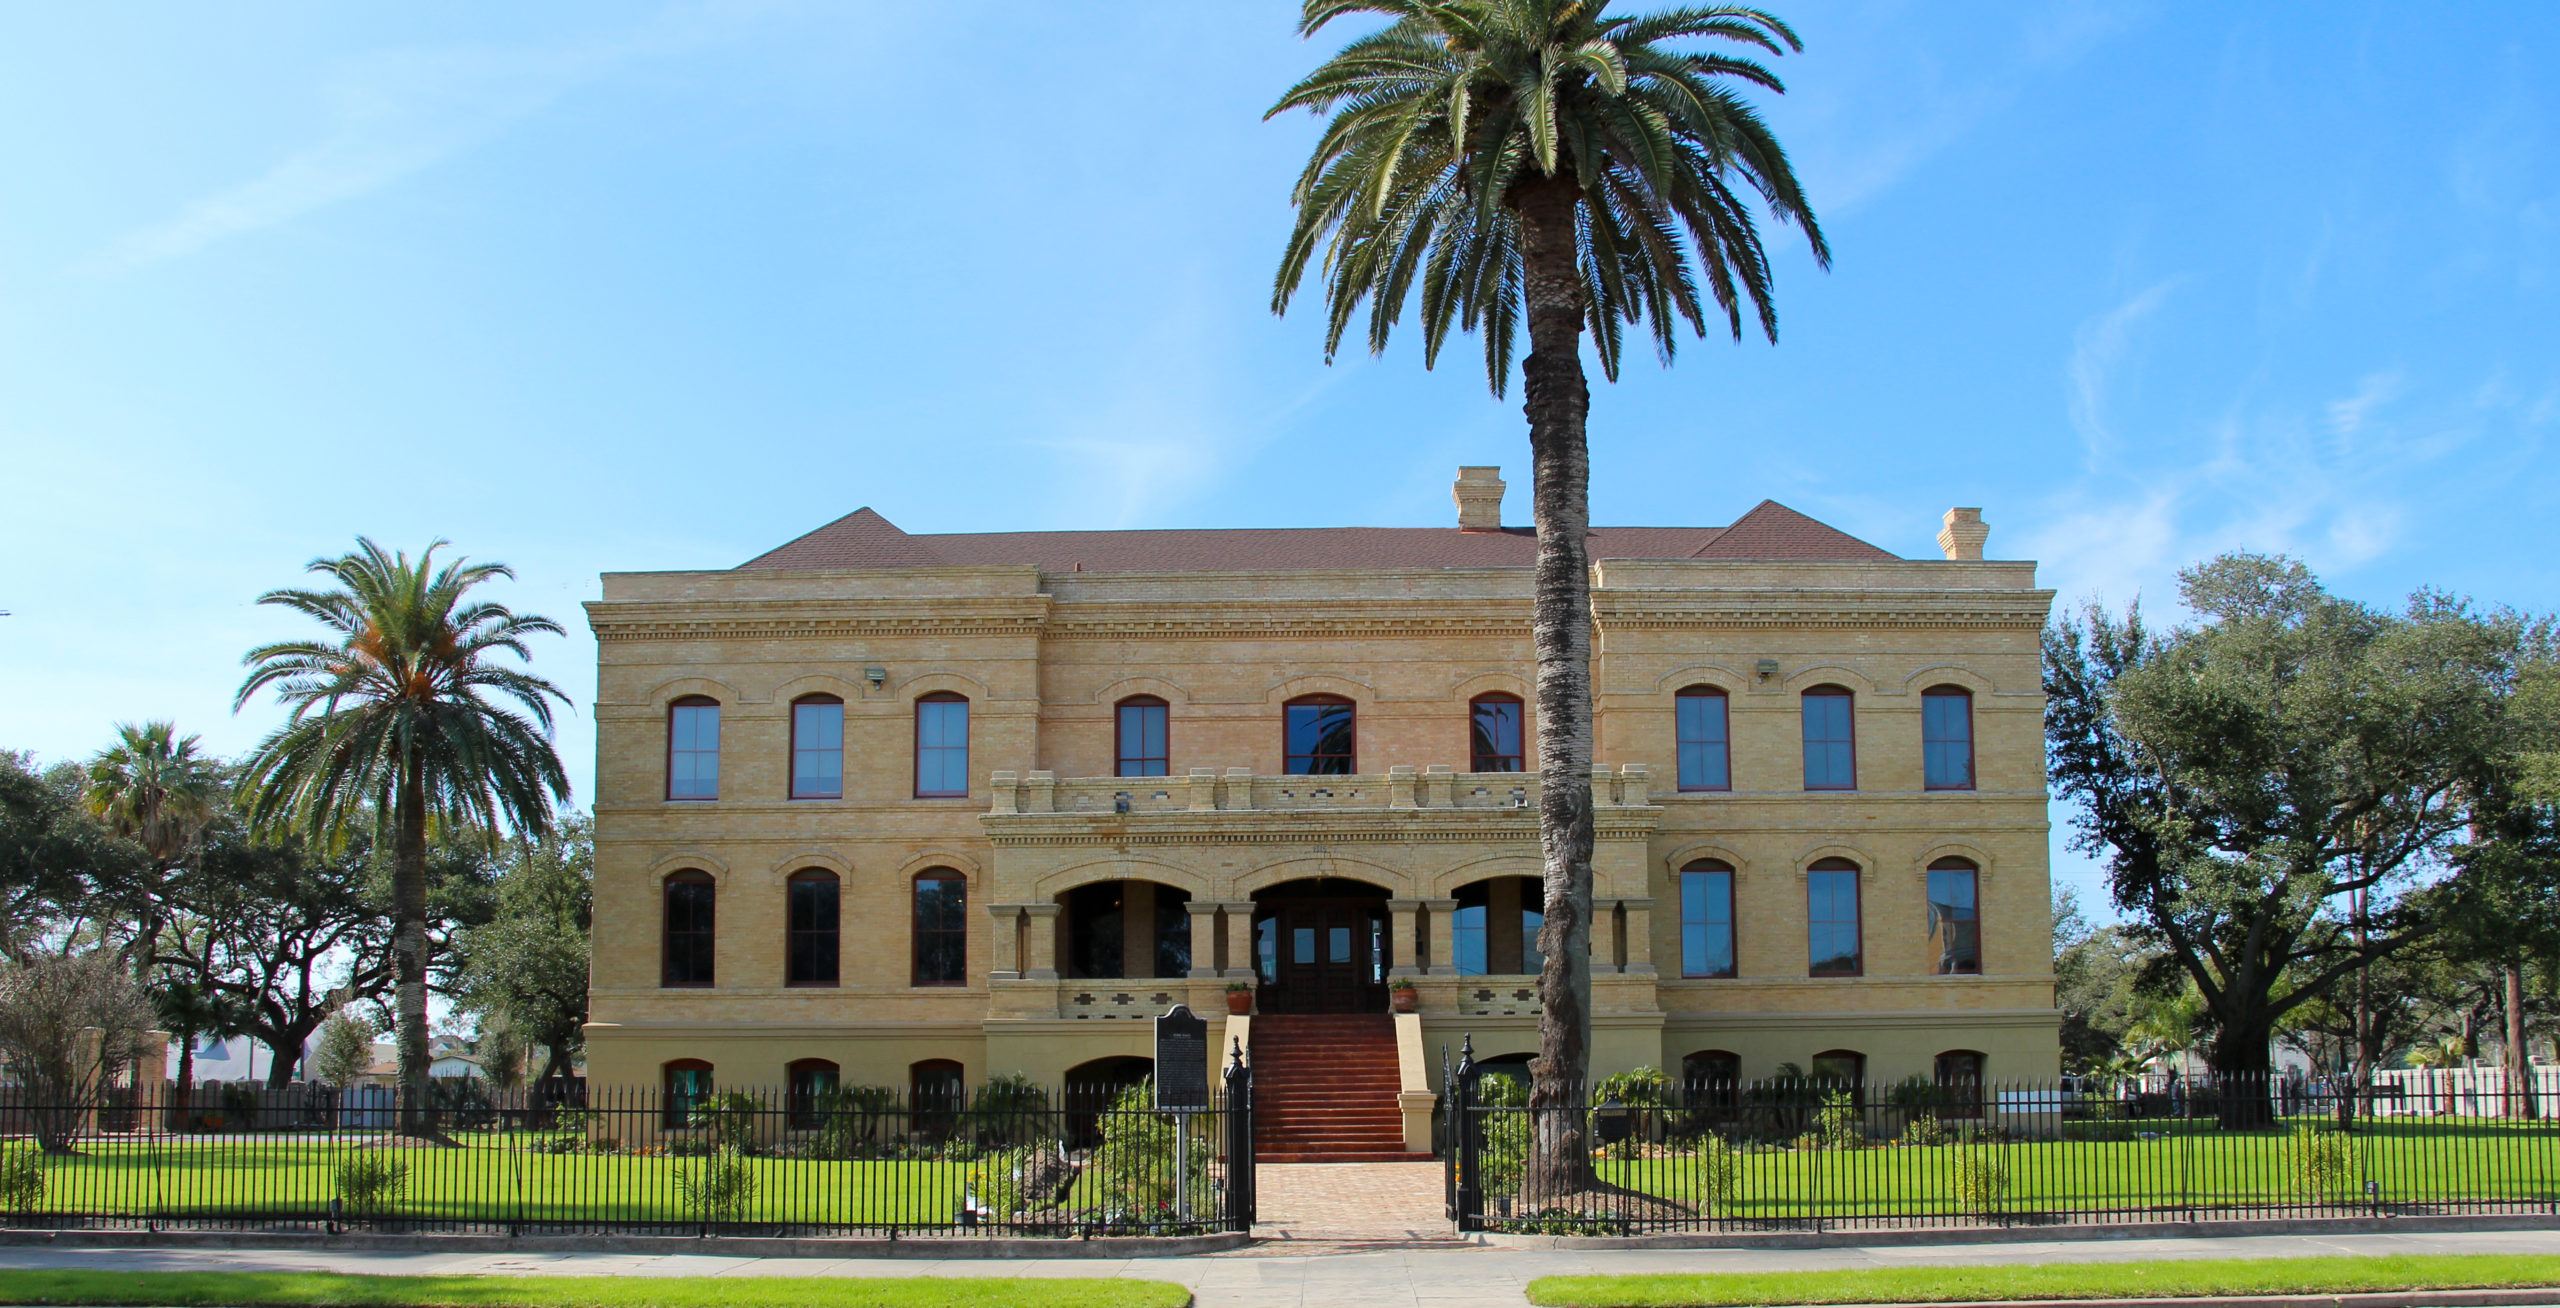
POLYGON ((1395 1106, 1395 1019, 1267 1014, 1254 1019, 1254 1157, 1260 1162, 1411 1162, 1395 1106))

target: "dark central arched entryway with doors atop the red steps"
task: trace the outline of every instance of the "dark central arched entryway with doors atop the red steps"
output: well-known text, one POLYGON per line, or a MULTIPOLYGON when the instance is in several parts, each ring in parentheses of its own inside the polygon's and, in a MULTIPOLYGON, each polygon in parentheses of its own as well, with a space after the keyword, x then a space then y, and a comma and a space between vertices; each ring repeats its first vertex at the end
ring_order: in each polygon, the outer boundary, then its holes
POLYGON ((1385 886, 1324 875, 1254 893, 1265 1014, 1382 1014, 1393 962, 1385 886))

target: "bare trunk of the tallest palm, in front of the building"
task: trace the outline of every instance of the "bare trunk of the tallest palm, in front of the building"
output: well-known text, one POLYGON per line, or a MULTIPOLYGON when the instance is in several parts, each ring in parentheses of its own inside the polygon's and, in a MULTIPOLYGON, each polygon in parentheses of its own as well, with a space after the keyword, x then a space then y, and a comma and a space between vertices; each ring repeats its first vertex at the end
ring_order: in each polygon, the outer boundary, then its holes
POLYGON ((1528 448, 1536 463, 1539 568, 1539 852, 1546 924, 1539 929, 1539 1057, 1531 1062, 1531 1147, 1523 1190, 1590 1190, 1592 1001, 1592 604, 1590 604, 1590 384, 1582 379, 1582 279, 1574 220, 1582 195, 1567 177, 1521 187, 1528 358, 1521 361, 1528 448))

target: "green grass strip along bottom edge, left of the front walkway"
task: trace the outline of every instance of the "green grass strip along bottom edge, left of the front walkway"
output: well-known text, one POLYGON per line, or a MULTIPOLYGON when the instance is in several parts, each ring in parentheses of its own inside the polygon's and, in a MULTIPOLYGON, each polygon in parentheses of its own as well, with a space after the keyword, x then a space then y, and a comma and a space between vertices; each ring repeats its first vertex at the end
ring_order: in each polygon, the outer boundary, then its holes
POLYGON ((0 1272, 0 1303, 384 1308, 1185 1308, 1162 1280, 1050 1277, 356 1277, 338 1272, 0 1272))

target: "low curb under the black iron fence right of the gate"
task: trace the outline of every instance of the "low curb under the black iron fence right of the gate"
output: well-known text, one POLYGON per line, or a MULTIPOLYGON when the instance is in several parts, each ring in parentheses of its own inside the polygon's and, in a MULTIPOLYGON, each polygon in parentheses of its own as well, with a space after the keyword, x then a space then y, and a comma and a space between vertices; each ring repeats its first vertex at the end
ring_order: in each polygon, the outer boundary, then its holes
MULTIPOLYGON (((2127 1221, 2112 1226, 1915 1226, 1905 1231, 1723 1231, 1723 1234, 1700 1231, 1700 1234, 1664 1234, 1664 1236, 1505 1236, 1487 1231, 1477 1239, 1498 1249, 1861 1249, 1861 1247, 1894 1247, 1894 1244, 2378 1236, 2378 1234, 2432 1234, 2432 1231, 2560 1231, 2560 1213, 2478 1213, 2478 1216, 2445 1213, 2445 1216, 2404 1216, 2404 1218, 2284 1218, 2284 1221, 2127 1221)), ((2560 1300, 2560 1293, 2542 1290, 2542 1298, 2560 1300)), ((2350 1303, 2350 1300, 2353 1295, 2301 1300, 2301 1303, 2350 1303)))

